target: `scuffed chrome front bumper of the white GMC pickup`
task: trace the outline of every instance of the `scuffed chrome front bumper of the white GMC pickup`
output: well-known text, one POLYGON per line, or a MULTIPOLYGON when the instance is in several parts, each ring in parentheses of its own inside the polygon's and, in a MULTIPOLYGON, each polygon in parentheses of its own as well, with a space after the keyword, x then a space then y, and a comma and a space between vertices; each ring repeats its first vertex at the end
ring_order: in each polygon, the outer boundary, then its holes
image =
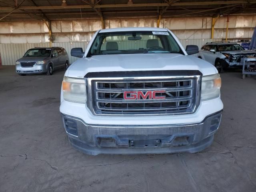
POLYGON ((198 152, 210 146, 222 111, 197 124, 108 126, 89 125, 61 114, 70 143, 86 154, 164 154, 198 152))

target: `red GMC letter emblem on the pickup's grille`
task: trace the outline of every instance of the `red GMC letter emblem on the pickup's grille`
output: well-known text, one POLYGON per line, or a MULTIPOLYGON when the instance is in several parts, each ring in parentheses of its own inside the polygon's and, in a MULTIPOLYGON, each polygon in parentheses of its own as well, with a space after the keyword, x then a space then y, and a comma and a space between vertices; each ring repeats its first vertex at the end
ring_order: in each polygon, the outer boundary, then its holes
POLYGON ((165 93, 165 90, 147 91, 124 91, 125 100, 136 100, 136 99, 165 99, 165 96, 156 96, 157 93, 165 93))

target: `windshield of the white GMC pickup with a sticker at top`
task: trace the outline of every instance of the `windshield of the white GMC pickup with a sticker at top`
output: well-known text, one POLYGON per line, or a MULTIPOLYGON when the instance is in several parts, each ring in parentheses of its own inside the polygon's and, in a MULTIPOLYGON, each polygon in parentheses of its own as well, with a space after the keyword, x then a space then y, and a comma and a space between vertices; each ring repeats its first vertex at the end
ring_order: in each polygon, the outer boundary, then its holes
POLYGON ((184 54, 169 32, 131 31, 98 33, 87 56, 136 53, 184 54))

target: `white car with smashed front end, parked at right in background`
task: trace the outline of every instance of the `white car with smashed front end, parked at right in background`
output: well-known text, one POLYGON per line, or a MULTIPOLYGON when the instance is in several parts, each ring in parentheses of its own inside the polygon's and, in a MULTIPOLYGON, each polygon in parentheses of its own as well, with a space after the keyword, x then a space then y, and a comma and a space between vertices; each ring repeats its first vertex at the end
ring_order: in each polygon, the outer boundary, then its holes
POLYGON ((230 67, 242 67, 243 59, 255 57, 255 51, 245 50, 237 43, 210 42, 202 46, 198 58, 213 64, 218 72, 230 67))

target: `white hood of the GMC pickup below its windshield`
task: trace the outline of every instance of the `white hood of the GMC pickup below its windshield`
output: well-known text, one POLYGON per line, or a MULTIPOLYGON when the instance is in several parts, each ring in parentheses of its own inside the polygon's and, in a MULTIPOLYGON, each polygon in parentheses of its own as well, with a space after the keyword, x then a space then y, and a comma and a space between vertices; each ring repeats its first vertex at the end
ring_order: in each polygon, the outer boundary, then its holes
POLYGON ((89 72, 152 70, 199 70, 202 74, 216 74, 216 68, 199 58, 182 54, 112 54, 81 58, 66 71, 65 76, 84 78, 89 72))

